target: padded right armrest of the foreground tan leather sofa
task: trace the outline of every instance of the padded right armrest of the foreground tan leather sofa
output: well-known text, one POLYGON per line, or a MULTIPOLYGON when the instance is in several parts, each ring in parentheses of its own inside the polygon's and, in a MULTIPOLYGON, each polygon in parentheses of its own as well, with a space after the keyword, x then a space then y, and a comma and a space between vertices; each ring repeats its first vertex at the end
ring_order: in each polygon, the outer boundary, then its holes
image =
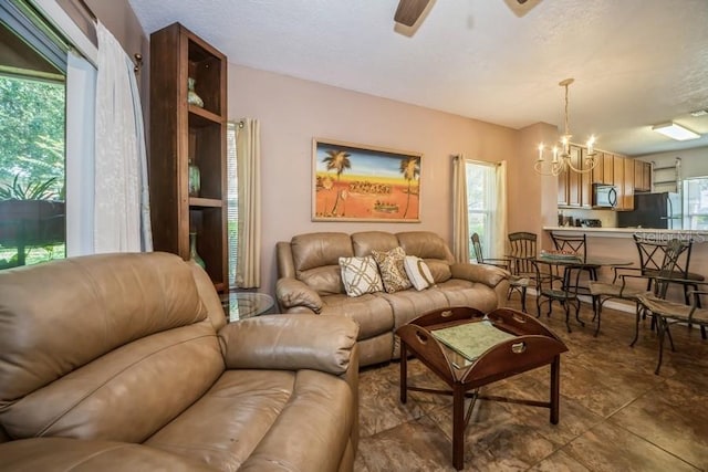
POLYGON ((358 325, 344 316, 264 315, 219 331, 230 369, 314 369, 344 374, 351 364, 358 325))

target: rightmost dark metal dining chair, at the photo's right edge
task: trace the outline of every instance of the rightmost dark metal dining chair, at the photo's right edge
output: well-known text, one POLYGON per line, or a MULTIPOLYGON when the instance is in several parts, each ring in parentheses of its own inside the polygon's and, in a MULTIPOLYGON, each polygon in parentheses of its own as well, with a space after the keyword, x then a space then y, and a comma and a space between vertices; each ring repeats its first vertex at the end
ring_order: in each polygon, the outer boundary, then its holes
MULTIPOLYGON (((693 297, 693 303, 677 303, 666 300, 666 294, 669 284, 677 283, 675 277, 676 271, 679 268, 679 260, 683 254, 690 250, 690 241, 679 241, 674 239, 664 244, 664 259, 658 272, 653 276, 654 292, 638 296, 642 307, 652 315, 653 321, 656 324, 656 331, 659 338, 659 358, 656 364, 654 374, 658 375, 662 368, 662 360, 664 357, 664 338, 668 336, 671 345, 671 350, 676 350, 674 347, 674 339, 669 327, 675 324, 686 324, 688 326, 697 325, 701 328, 701 336, 706 339, 706 326, 708 326, 708 310, 700 307, 700 297, 708 295, 707 291, 693 290, 689 291, 689 296, 693 297)), ((680 272, 680 270, 678 270, 680 272)), ((687 281, 693 286, 707 285, 706 282, 687 281)), ((637 332, 639 319, 637 317, 637 332)), ((636 343, 635 336, 632 346, 636 343)))

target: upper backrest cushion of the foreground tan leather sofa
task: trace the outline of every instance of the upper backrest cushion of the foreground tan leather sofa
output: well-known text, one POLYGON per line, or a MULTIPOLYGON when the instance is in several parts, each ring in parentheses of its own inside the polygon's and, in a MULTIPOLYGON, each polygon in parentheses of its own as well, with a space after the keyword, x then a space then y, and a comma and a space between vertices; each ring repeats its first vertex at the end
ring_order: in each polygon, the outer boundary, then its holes
POLYGON ((92 255, 0 271, 0 405, 206 315, 189 266, 174 254, 92 255))

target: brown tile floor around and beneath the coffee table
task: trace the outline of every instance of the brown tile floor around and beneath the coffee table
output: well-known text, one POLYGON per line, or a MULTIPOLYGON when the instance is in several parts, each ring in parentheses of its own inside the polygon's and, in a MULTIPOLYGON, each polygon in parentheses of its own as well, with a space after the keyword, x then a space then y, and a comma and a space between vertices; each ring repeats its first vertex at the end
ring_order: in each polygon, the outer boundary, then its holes
MULTIPOLYGON (((535 314, 533 297, 529 310, 535 314)), ((511 307, 519 307, 514 301, 511 307)), ((583 305, 581 318, 592 319, 583 305)), ((602 331, 572 323, 558 308, 541 318, 569 347, 561 359, 561 419, 549 410, 479 401, 466 431, 466 471, 706 471, 708 470, 708 340, 683 326, 665 352, 648 319, 634 348, 634 316, 605 308, 602 331)), ((667 346, 668 347, 668 346, 667 346)), ((398 396, 399 363, 369 367, 360 379, 357 472, 454 471, 451 398, 398 396)), ((409 384, 445 386, 425 366, 409 364, 409 384)), ((486 387, 487 394, 548 399, 549 367, 486 387)))

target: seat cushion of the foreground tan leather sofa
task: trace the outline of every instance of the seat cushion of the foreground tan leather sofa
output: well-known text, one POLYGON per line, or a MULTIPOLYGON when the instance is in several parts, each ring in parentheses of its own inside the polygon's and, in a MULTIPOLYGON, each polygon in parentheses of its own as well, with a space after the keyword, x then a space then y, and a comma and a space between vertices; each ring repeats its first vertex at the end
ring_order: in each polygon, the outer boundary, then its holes
POLYGON ((336 470, 352 401, 344 380, 320 371, 227 370, 146 444, 216 470, 271 470, 282 458, 283 470, 336 470))

